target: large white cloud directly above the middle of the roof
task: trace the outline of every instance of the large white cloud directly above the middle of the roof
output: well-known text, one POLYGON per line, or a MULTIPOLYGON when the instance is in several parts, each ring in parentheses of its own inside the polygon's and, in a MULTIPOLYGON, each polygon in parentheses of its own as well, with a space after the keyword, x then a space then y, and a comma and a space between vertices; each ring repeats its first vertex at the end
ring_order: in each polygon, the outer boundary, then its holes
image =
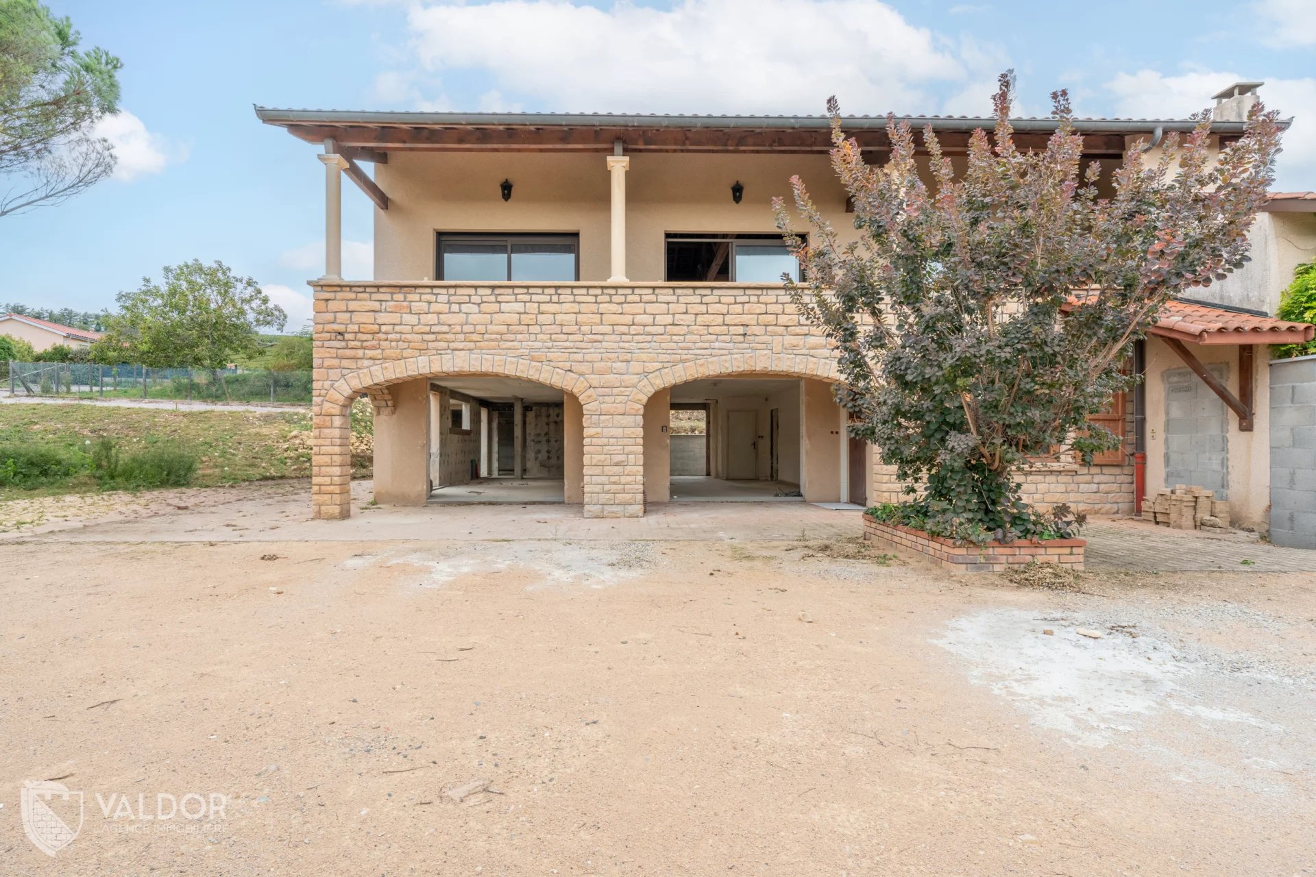
MULTIPOLYGON (((429 84, 479 71, 492 85, 482 103, 507 96, 569 112, 820 113, 833 92, 849 113, 930 112, 933 89, 990 80, 1001 54, 917 28, 876 0, 416 4, 408 28, 429 84)), ((395 74, 376 82, 397 87, 395 74)))

